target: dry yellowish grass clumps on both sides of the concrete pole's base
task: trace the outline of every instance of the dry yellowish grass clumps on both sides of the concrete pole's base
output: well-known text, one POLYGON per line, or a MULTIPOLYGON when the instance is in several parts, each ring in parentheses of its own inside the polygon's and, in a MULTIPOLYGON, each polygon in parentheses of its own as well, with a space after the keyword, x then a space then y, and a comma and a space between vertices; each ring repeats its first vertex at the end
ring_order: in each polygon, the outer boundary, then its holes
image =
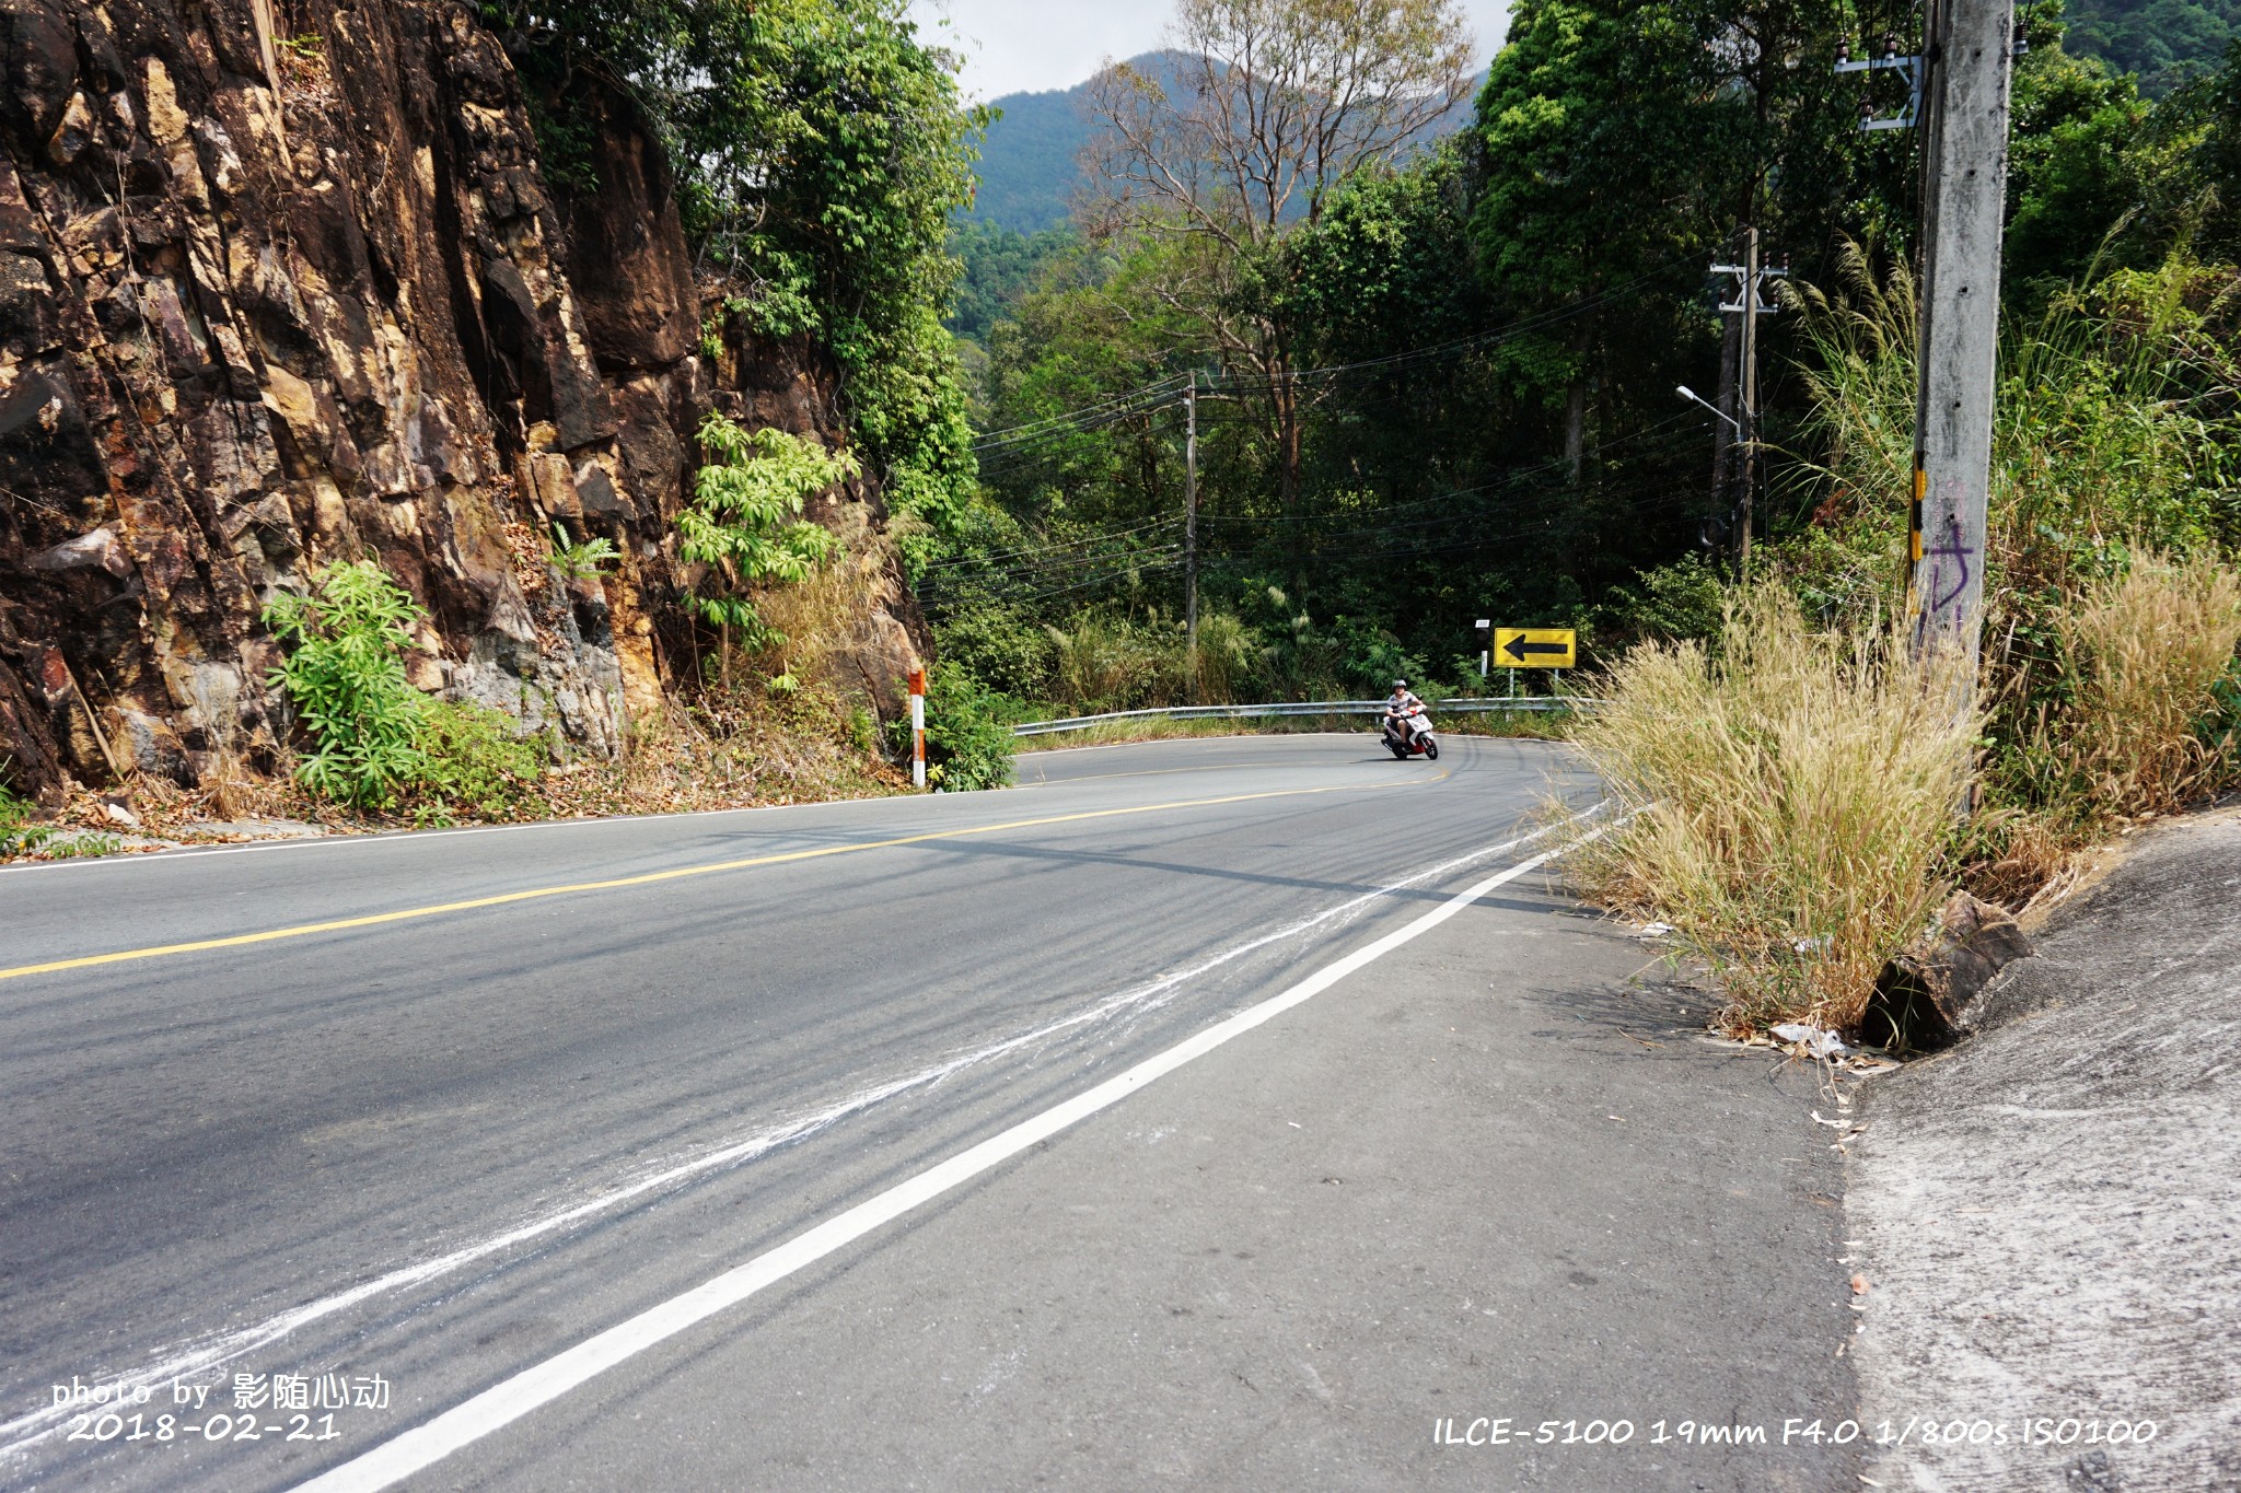
POLYGON ((1573 727, 1634 810, 1580 846, 1582 889, 1676 929, 1726 989, 1719 1027, 1853 1027, 1952 886, 2017 907, 2095 839, 2237 781, 2230 571, 2140 555, 2057 629, 2035 676, 1990 649, 1974 698, 1954 660, 1813 631, 1777 584, 1710 647, 1638 647, 1573 727))

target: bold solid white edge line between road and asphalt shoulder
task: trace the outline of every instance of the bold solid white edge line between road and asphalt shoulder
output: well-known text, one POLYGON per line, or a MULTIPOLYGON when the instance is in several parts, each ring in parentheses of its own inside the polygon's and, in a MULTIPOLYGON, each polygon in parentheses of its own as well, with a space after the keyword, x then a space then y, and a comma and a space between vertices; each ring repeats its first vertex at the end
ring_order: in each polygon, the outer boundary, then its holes
MULTIPOLYGON (((1598 826, 1589 830, 1584 839, 1596 839, 1609 826, 1598 826)), ((838 1218, 831 1218, 807 1233, 798 1233, 784 1245, 755 1256, 746 1265, 728 1269, 722 1276, 715 1276, 681 1296, 672 1296, 657 1307, 648 1307, 630 1321, 616 1323, 614 1327, 607 1327, 605 1332, 598 1332, 583 1343, 491 1386, 489 1390, 437 1415, 433 1421, 415 1426, 374 1450, 352 1457, 350 1462, 298 1484, 298 1493, 376 1493, 379 1489, 394 1486, 412 1473, 435 1466, 450 1453, 473 1446, 493 1430, 511 1426, 538 1406, 560 1399, 569 1390, 605 1374, 610 1368, 627 1363, 648 1348, 708 1321, 717 1312, 740 1305, 748 1296, 755 1296, 787 1276, 816 1265, 825 1256, 845 1249, 881 1224, 932 1202, 941 1193, 948 1193, 950 1189, 970 1182, 984 1171, 991 1171, 993 1166, 1058 1135, 1060 1130, 1089 1119, 1098 1110, 1112 1108, 1154 1079, 1161 1079, 1177 1068, 1206 1057, 1215 1048, 1244 1036, 1253 1027, 1282 1016, 1291 1007, 1311 1001, 1349 974, 1374 965, 1401 945, 1432 931, 1490 893, 1495 886, 1515 882, 1519 875, 1546 864, 1551 857, 1560 855, 1562 848, 1564 846, 1544 851, 1510 866, 1508 871, 1497 871, 1475 886, 1466 886, 1407 927, 1394 929, 1392 933, 1363 945, 1354 954, 1324 965, 1298 985, 1268 996, 1259 1005, 1250 1005, 1235 1016, 1206 1027, 1197 1036, 1179 1041, 1159 1057, 1150 1057, 1127 1072, 1076 1095, 1073 1099, 1056 1104, 1049 1110, 1002 1130, 999 1135, 991 1135, 982 1144, 961 1151, 948 1162, 921 1171, 917 1177, 899 1182, 876 1198, 858 1202, 838 1218)))

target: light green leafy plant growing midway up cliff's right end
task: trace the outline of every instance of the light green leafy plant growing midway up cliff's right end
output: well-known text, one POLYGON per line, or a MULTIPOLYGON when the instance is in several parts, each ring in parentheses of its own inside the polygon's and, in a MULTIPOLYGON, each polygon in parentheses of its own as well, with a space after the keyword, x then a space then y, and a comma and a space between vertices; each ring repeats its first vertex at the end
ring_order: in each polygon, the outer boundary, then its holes
POLYGON ((856 459, 782 430, 744 430, 713 412, 701 421, 699 443, 706 463, 692 477, 692 501, 677 515, 677 553, 708 566, 686 600, 722 631, 728 685, 735 645, 784 642, 755 611, 753 589, 809 580, 831 555, 831 533, 802 522, 802 508, 811 495, 854 477, 856 459))

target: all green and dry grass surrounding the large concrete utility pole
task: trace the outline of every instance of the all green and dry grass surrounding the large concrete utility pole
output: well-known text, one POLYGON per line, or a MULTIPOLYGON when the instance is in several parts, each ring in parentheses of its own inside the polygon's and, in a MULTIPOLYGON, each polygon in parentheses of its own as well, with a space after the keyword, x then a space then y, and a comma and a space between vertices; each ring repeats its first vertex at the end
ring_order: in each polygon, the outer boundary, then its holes
POLYGON ((1578 732, 1638 810, 1584 882, 1672 924, 1735 1032, 1851 1027, 1952 889, 2021 907, 2086 846, 2241 786, 2234 271, 2174 253, 2012 318, 1974 689, 1889 622, 1912 293, 1856 291, 1813 313, 1820 522, 1708 642, 1616 663, 1578 732))

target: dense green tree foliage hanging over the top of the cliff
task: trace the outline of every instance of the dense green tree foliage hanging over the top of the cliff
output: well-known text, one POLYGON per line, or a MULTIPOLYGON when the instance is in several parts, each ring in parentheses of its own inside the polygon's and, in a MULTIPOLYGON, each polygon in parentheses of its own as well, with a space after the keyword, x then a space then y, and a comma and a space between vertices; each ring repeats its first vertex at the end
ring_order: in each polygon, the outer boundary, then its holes
POLYGON ((890 504, 950 522, 973 492, 941 318, 950 215, 973 199, 986 112, 905 0, 509 0, 484 13, 571 128, 578 72, 621 81, 677 166, 686 231, 760 336, 813 336, 890 504))

